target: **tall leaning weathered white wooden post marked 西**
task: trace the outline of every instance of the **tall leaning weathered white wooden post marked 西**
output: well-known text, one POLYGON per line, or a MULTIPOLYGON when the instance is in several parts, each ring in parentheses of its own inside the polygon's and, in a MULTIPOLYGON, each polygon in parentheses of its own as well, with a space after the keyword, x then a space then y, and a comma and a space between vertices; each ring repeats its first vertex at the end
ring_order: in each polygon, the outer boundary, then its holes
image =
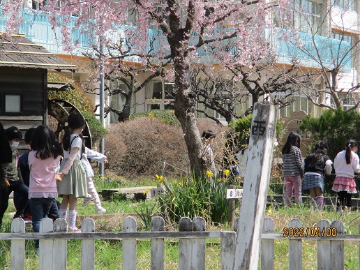
POLYGON ((233 269, 258 269, 277 112, 271 103, 255 103, 233 269))

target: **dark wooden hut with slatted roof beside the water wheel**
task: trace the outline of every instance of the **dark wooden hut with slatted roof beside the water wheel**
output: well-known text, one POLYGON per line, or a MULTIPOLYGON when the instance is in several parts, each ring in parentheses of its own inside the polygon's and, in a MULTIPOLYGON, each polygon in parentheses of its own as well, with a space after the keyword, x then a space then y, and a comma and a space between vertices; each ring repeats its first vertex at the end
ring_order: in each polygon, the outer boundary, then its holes
POLYGON ((17 126, 24 131, 47 123, 47 70, 75 68, 23 35, 0 35, 0 122, 4 128, 17 126))

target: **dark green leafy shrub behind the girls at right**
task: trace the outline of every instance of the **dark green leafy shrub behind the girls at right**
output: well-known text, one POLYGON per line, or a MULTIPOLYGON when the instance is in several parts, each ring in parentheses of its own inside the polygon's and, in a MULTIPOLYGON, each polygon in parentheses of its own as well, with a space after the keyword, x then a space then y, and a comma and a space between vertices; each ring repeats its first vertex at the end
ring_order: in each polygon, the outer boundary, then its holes
POLYGON ((345 142, 355 139, 360 142, 360 114, 355 110, 325 110, 319 118, 306 117, 300 124, 303 135, 313 140, 312 146, 318 140, 329 144, 328 156, 333 160, 336 154, 343 151, 345 142))

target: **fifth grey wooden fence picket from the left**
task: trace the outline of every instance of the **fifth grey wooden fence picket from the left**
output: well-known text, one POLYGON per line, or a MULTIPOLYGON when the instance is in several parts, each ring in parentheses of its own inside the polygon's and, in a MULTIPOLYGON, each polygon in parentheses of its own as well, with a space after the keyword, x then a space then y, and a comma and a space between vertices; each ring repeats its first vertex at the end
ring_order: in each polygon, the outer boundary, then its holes
MULTIPOLYGON (((123 220, 123 232, 136 232, 135 218, 123 220)), ((136 270, 136 239, 123 239, 123 270, 136 270)))

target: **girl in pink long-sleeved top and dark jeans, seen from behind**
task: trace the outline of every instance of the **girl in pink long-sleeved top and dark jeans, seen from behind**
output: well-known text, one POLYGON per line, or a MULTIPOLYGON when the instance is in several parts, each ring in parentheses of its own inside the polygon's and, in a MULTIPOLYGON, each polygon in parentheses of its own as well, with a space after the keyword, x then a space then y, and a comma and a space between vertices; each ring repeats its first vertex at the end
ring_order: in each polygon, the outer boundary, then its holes
MULTIPOLYGON (((33 131, 29 153, 29 199, 33 220, 33 232, 39 232, 40 220, 56 204, 57 193, 56 172, 60 164, 63 149, 48 126, 38 126, 33 131)), ((58 181, 61 179, 58 179, 58 181)), ((35 248, 39 241, 35 241, 35 248)))

